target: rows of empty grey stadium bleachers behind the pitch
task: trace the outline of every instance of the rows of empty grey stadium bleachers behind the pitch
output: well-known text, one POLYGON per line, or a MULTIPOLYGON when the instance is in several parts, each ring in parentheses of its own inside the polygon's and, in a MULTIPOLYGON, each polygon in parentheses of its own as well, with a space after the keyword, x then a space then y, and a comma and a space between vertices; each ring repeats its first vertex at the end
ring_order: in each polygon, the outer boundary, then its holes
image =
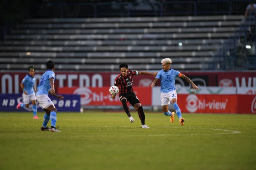
MULTIPOLYGON (((26 69, 30 63, 44 70, 53 59, 59 70, 158 70, 170 57, 172 68, 211 69, 213 57, 243 16, 41 18, 28 19, 1 41, 0 69, 26 69)), ((244 31, 236 31, 241 36, 244 31)), ((230 46, 233 48, 233 45, 230 46)))

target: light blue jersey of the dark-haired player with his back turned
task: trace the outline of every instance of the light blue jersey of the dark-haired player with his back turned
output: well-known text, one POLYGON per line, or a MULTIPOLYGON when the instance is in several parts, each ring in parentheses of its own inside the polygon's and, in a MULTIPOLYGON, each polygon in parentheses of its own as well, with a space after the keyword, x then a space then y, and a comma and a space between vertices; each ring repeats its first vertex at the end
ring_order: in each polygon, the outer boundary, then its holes
POLYGON ((49 90, 51 89, 50 78, 53 78, 55 81, 55 73, 52 70, 47 70, 41 77, 40 83, 38 85, 38 91, 36 96, 46 94, 48 95, 49 90))

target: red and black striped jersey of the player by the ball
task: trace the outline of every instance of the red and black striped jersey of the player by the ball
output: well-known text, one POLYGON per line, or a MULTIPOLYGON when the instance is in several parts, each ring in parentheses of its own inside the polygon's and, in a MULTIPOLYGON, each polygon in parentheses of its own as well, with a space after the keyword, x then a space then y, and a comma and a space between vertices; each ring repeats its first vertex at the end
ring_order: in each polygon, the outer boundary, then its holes
POLYGON ((115 86, 119 88, 119 94, 122 93, 134 93, 132 88, 133 76, 138 75, 139 71, 128 70, 126 77, 119 74, 115 79, 115 86))

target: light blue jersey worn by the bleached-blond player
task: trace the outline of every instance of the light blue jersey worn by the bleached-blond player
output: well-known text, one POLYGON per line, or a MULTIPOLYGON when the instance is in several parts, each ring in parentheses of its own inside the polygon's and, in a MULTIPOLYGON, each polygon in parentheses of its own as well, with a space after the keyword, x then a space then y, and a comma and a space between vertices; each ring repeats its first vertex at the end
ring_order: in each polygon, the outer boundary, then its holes
POLYGON ((168 93, 170 91, 176 90, 175 88, 175 77, 181 76, 179 71, 176 71, 172 68, 169 71, 160 70, 157 73, 157 79, 161 79, 161 89, 162 93, 168 93))

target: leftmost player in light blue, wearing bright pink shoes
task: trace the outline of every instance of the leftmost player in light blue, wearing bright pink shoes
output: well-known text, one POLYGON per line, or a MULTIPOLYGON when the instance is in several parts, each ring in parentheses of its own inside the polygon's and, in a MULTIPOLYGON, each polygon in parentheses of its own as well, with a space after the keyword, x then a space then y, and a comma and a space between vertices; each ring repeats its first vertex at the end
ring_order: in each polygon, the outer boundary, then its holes
POLYGON ((38 116, 36 115, 37 113, 37 108, 36 108, 36 100, 35 100, 35 93, 36 93, 36 89, 35 89, 35 68, 30 66, 29 67, 29 74, 24 77, 24 79, 22 80, 22 82, 20 83, 20 87, 23 90, 23 103, 20 102, 16 108, 19 109, 21 108, 28 108, 29 107, 29 103, 32 102, 32 110, 33 110, 33 114, 34 114, 34 119, 39 119, 38 116))

